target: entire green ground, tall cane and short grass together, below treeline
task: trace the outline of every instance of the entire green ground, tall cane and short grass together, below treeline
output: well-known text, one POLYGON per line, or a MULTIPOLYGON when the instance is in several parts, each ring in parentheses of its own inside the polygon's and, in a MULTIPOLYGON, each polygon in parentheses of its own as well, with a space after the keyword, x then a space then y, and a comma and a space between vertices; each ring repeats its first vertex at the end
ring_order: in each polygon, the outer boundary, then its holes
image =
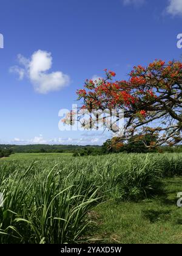
POLYGON ((0 243, 174 241, 181 174, 181 154, 11 155, 0 162, 0 243))

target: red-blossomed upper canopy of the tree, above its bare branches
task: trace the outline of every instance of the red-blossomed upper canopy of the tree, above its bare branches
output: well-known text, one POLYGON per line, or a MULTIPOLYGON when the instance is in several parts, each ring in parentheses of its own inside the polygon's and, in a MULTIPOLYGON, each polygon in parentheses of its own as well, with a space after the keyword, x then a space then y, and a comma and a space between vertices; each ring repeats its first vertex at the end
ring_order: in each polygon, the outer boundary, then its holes
MULTIPOLYGON (((112 81, 116 73, 106 72, 106 78, 99 82, 86 80, 85 89, 78 90, 79 99, 84 99, 83 108, 124 108, 130 112, 136 110, 139 116, 146 117, 149 112, 143 110, 144 104, 155 103, 159 98, 161 90, 170 90, 181 76, 182 63, 155 60, 148 66, 134 66, 130 73, 129 80, 112 81), (159 90, 160 89, 160 90, 159 90), (138 110, 142 109, 142 110, 138 110)), ((134 114, 133 114, 134 115, 134 114)))

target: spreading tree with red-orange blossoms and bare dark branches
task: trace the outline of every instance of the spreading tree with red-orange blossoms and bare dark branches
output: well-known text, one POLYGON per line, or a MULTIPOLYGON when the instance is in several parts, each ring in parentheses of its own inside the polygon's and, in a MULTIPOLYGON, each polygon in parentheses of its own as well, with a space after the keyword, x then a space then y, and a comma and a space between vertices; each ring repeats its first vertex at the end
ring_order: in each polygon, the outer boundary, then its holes
POLYGON ((155 60, 146 67, 134 66, 128 80, 113 81, 116 74, 104 71, 106 79, 86 80, 84 89, 77 91, 82 109, 123 109, 125 123, 120 141, 150 133, 158 137, 151 147, 180 143, 182 63, 155 60))

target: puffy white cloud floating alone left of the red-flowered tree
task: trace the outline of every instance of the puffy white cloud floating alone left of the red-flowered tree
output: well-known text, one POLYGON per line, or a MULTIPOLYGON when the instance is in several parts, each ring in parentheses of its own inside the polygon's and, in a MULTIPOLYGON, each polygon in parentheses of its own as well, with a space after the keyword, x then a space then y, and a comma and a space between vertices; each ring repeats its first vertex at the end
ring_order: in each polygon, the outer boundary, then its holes
POLYGON ((61 71, 48 73, 52 68, 52 55, 50 52, 38 50, 30 59, 18 55, 18 62, 23 66, 12 66, 10 72, 17 73, 22 80, 26 75, 38 93, 58 91, 70 84, 70 77, 61 71))

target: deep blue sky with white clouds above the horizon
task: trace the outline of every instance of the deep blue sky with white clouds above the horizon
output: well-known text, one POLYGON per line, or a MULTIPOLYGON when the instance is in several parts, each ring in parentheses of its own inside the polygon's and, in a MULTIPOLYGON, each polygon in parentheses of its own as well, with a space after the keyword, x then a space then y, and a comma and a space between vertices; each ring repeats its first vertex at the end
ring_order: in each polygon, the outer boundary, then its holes
POLYGON ((0 143, 101 144, 58 129, 84 80, 103 69, 180 59, 181 0, 0 0, 0 143), (29 66, 29 68, 27 68, 29 66), (31 68, 30 68, 31 66, 31 68))

